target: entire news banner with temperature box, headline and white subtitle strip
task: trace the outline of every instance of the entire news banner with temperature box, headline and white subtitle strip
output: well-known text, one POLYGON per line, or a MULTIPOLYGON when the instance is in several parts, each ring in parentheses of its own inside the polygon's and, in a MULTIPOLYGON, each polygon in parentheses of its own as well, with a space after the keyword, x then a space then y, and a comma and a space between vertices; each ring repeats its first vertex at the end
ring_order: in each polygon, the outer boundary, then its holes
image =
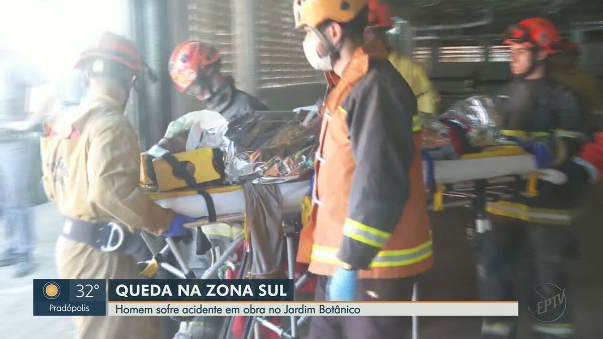
POLYGON ((34 315, 517 316, 517 302, 295 302, 293 280, 34 280, 34 315))

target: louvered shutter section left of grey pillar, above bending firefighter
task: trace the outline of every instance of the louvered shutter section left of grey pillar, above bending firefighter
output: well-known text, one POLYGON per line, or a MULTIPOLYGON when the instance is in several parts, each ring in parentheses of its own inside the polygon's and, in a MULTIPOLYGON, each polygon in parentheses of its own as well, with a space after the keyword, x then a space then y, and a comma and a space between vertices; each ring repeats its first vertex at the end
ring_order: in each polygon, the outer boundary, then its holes
POLYGON ((232 75, 234 41, 230 0, 188 0, 189 39, 211 43, 222 58, 222 72, 232 75))

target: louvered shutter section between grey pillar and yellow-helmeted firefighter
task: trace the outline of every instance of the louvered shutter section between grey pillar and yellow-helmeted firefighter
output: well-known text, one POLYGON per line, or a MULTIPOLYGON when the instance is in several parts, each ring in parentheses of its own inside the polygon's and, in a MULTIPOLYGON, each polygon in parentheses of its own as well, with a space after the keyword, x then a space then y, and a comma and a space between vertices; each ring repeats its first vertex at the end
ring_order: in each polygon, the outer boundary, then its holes
POLYGON ((294 28, 292 2, 256 0, 256 52, 259 87, 323 83, 324 76, 306 60, 303 30, 294 28))

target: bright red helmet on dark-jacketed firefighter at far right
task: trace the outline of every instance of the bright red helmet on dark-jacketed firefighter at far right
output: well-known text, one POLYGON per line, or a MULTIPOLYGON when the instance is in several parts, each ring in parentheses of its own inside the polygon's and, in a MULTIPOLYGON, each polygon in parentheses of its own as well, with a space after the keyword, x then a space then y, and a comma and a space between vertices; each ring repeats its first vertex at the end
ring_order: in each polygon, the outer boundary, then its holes
POLYGON ((505 32, 503 43, 538 46, 545 49, 548 54, 555 54, 560 51, 560 40, 557 28, 551 21, 542 17, 532 17, 509 27, 505 32))

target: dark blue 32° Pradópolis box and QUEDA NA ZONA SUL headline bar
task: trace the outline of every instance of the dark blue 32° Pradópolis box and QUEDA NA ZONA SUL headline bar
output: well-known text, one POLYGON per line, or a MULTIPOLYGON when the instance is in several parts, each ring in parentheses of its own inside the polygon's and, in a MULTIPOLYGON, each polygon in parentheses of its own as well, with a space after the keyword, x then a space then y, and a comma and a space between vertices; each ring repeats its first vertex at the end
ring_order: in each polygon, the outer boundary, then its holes
POLYGON ((34 279, 34 315, 107 315, 107 302, 293 301, 293 280, 34 279))

